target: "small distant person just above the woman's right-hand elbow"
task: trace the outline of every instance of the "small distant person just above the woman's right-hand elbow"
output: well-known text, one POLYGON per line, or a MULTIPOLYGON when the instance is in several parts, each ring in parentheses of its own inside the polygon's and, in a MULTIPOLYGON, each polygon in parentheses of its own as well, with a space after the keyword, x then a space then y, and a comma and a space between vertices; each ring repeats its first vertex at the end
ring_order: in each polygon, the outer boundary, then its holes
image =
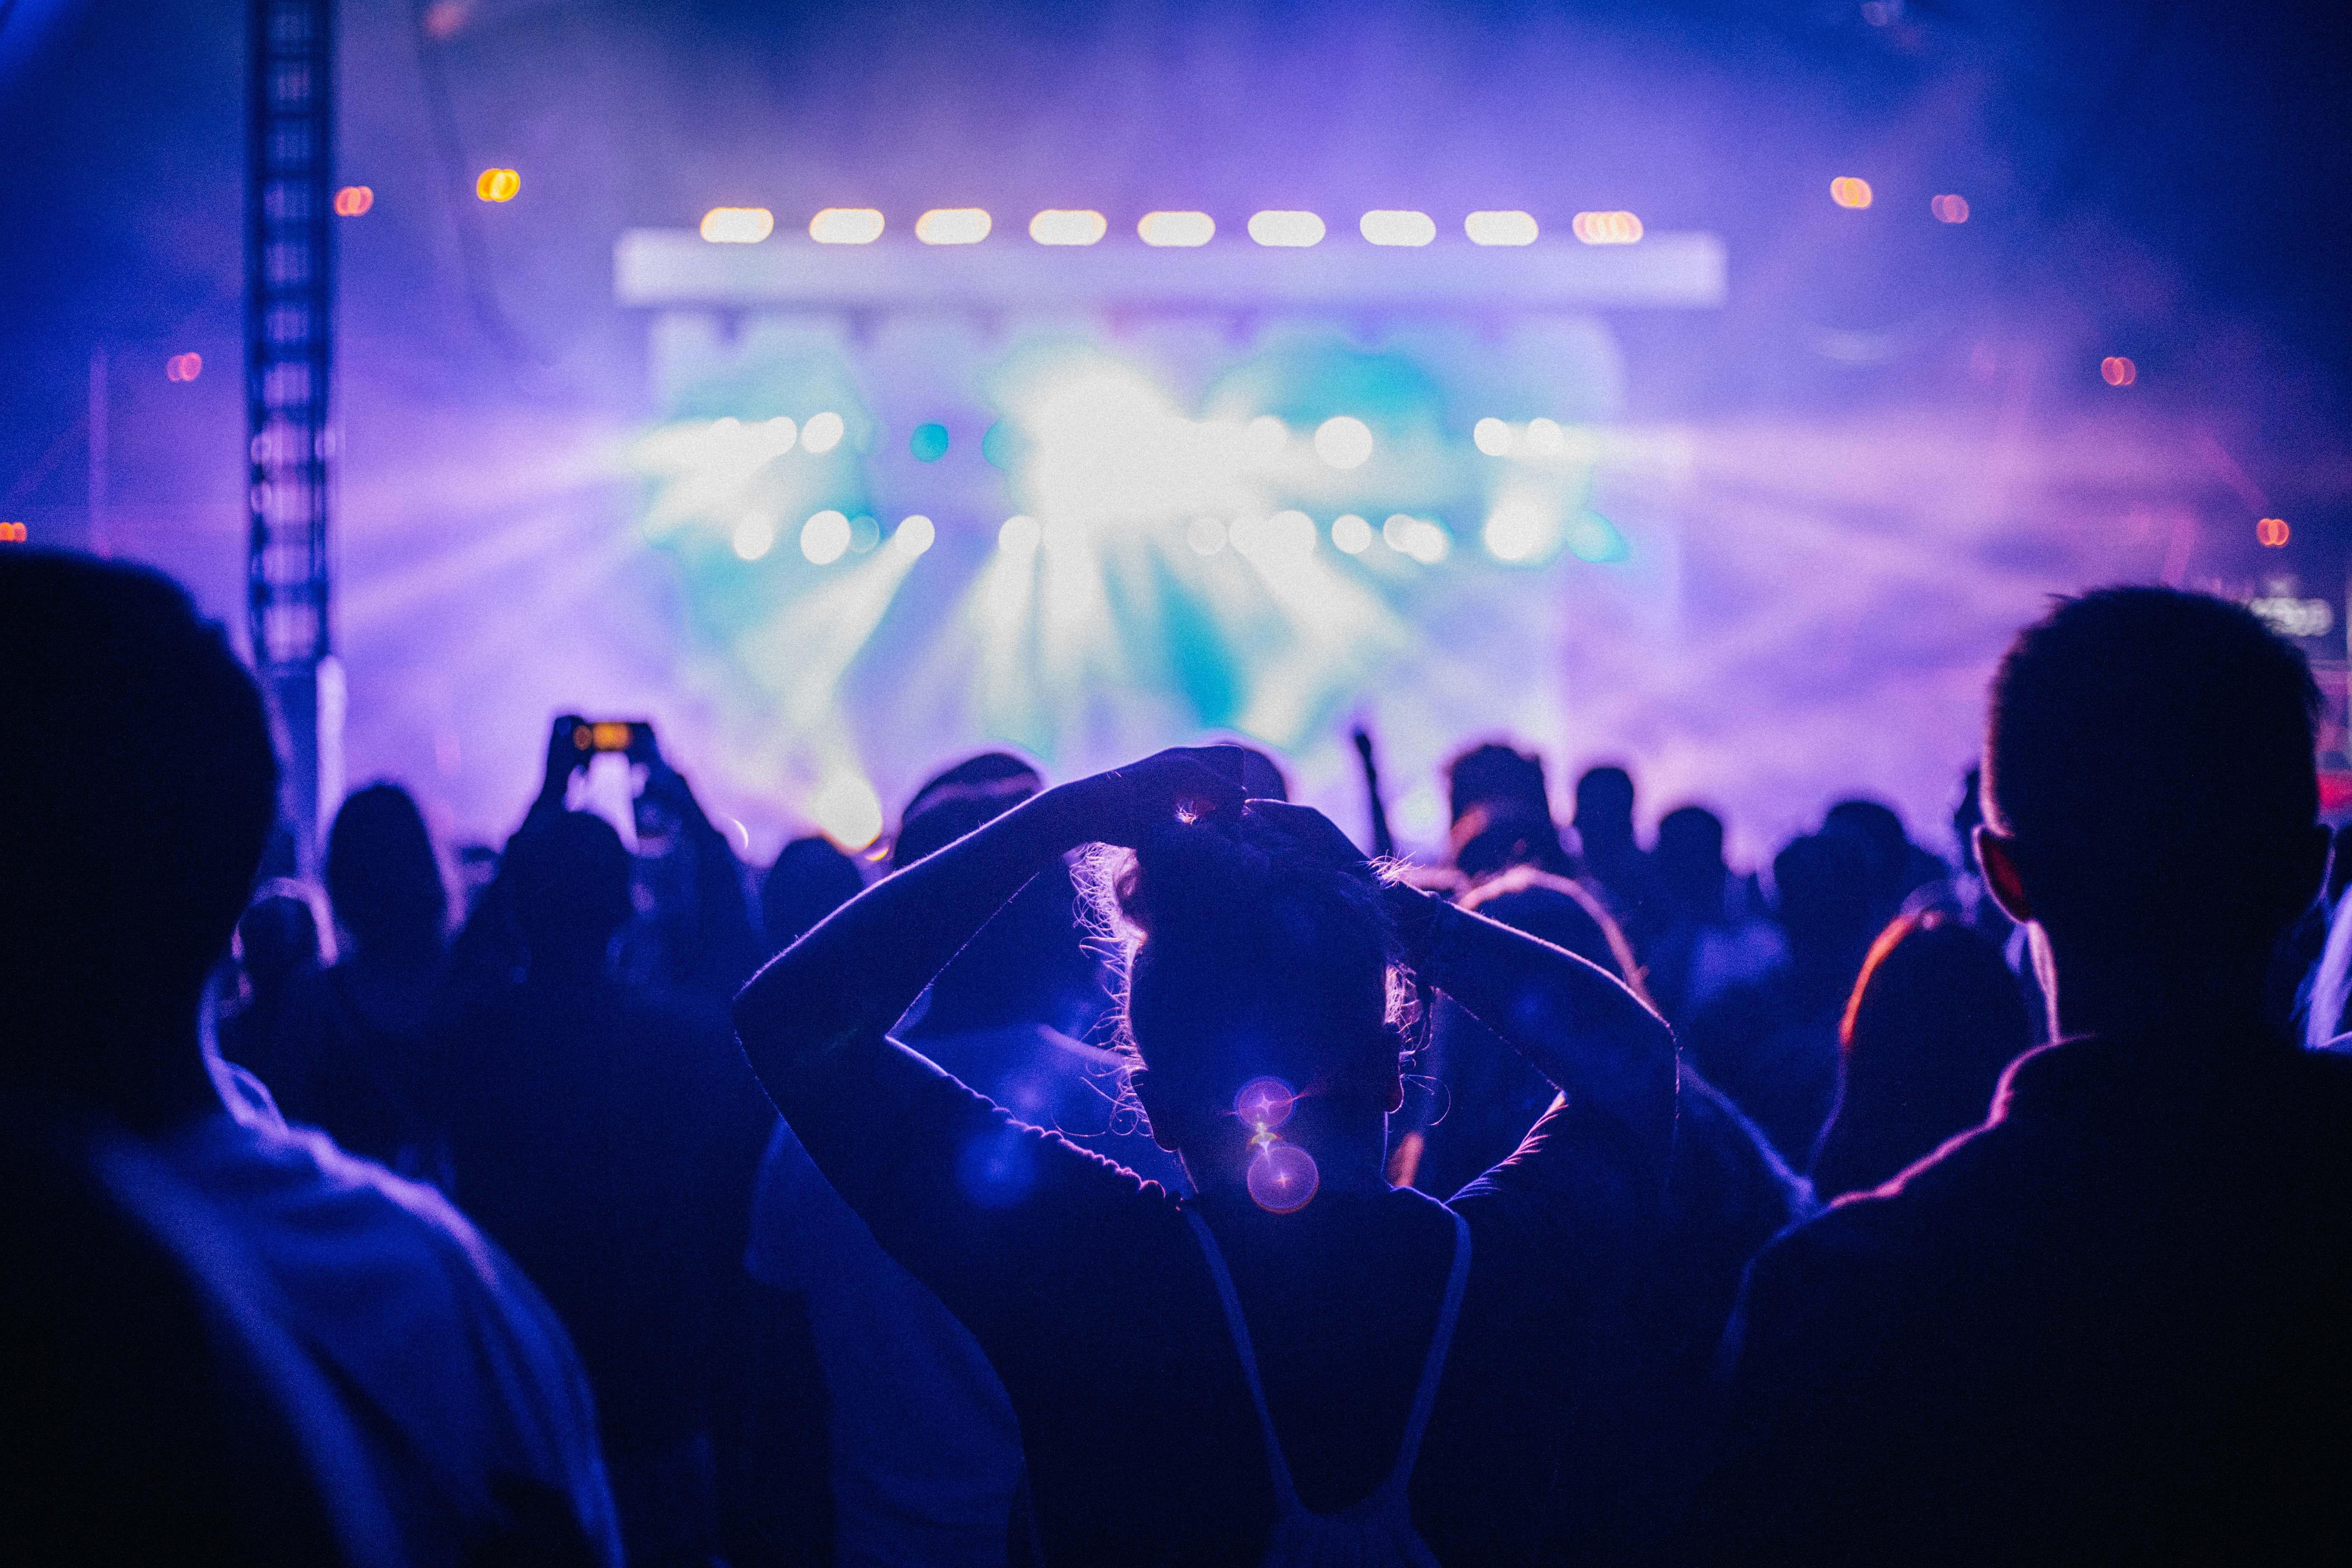
POLYGON ((1658 818, 1651 870, 1658 905, 1646 980, 1658 1011, 1677 1027, 1788 957, 1771 922, 1750 912, 1745 884, 1724 863, 1724 820, 1705 806, 1677 806, 1658 818))

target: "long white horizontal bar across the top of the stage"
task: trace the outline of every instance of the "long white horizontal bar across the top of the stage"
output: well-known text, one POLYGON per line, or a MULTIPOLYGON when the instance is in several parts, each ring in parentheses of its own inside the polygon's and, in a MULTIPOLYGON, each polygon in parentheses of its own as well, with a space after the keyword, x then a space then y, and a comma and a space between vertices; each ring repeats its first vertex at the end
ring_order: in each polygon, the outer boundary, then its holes
POLYGON ((614 299, 644 308, 1162 308, 1162 310, 1592 310, 1724 303, 1724 242, 1270 249, 1261 244, 708 244, 691 228, 614 242, 614 299))

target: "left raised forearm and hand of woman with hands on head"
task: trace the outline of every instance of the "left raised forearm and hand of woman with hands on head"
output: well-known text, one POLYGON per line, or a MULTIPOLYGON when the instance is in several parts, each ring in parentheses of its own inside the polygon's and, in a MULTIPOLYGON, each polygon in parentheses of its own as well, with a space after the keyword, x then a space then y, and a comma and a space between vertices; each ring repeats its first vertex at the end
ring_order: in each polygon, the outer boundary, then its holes
POLYGON ((1232 811, 1214 750, 1171 750, 1056 785, 884 877, 786 947, 736 997, 736 1030, 771 1086, 811 1051, 870 1039, 913 1006, 1030 877, 1080 844, 1134 844, 1176 811, 1232 811))

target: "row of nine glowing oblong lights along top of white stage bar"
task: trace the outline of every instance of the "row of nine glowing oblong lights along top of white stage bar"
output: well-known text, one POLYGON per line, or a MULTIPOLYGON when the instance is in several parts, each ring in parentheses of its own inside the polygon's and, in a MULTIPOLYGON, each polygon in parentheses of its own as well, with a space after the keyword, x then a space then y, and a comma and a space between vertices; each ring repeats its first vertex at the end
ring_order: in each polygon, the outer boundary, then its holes
MULTIPOLYGON (((506 197, 494 197, 506 200, 506 197)), ((887 219, 875 207, 826 207, 809 219, 809 237, 818 244, 873 244, 887 219)), ((767 207, 713 207, 703 214, 701 235, 713 244, 757 244, 776 233, 776 214, 767 207)), ((915 237, 924 244, 978 244, 995 233, 985 207, 934 207, 915 219, 915 237)), ((1101 212, 1049 207, 1030 219, 1037 244, 1096 244, 1110 233, 1101 212)), ((1329 228, 1317 212, 1268 209, 1249 216, 1249 237, 1275 249, 1322 244, 1329 228)), ((1425 212, 1381 209, 1357 219, 1357 233, 1369 244, 1421 247, 1437 240, 1437 219, 1425 212)), ((1642 219, 1630 212, 1578 212, 1569 221, 1585 244, 1635 244, 1642 219)), ((1529 212, 1472 212, 1463 219, 1470 244, 1534 244, 1543 226, 1529 212)), ((1136 237, 1155 247, 1190 249, 1216 237, 1216 219, 1207 212, 1145 212, 1136 237)))

